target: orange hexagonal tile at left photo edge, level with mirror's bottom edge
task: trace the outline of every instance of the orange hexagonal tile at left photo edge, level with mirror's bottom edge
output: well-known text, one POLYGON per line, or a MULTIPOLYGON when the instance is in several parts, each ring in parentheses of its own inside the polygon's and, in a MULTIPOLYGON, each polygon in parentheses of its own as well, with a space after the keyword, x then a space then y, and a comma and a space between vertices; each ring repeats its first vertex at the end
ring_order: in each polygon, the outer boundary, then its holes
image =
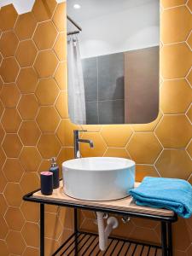
POLYGON ((20 115, 15 108, 6 108, 3 117, 2 124, 6 132, 17 132, 20 127, 20 115))

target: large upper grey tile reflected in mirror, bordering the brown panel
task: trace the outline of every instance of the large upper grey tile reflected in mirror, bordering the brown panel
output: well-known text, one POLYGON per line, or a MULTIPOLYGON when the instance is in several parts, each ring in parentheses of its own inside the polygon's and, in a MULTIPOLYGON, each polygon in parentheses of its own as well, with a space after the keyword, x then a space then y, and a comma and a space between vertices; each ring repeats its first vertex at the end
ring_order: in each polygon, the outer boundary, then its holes
POLYGON ((123 53, 98 57, 98 99, 124 99, 123 53))

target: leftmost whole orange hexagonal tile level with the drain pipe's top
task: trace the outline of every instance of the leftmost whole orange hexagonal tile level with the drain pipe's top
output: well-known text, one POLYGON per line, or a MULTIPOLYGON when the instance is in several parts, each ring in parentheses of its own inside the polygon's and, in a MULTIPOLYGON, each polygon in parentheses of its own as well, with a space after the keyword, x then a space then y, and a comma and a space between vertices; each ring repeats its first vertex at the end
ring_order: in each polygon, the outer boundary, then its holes
POLYGON ((20 231, 25 223, 25 218, 18 207, 9 207, 4 218, 6 219, 10 230, 20 231))

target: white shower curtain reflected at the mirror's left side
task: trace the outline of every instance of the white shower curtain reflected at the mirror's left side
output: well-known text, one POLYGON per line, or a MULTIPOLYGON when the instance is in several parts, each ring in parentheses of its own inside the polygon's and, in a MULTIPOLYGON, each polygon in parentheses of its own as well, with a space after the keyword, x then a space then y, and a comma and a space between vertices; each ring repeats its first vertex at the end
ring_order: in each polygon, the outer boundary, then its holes
POLYGON ((67 38, 68 109, 75 124, 86 124, 84 77, 77 35, 67 38))

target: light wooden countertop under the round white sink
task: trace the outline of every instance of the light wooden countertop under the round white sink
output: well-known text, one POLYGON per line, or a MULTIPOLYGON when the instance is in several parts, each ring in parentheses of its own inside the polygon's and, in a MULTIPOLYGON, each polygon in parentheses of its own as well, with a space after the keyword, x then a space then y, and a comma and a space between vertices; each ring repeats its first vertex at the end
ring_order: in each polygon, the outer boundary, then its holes
MULTIPOLYGON (((136 186, 138 185, 139 183, 136 183, 136 186)), ((139 212, 162 217, 172 217, 174 215, 174 212, 172 212, 171 210, 137 206, 131 196, 115 201, 82 201, 74 199, 64 194, 62 182, 58 189, 54 189, 52 195, 42 195, 41 191, 38 190, 38 192, 34 193, 32 197, 44 199, 45 201, 59 201, 66 204, 69 203, 88 207, 102 207, 106 209, 115 209, 124 212, 139 212)))

